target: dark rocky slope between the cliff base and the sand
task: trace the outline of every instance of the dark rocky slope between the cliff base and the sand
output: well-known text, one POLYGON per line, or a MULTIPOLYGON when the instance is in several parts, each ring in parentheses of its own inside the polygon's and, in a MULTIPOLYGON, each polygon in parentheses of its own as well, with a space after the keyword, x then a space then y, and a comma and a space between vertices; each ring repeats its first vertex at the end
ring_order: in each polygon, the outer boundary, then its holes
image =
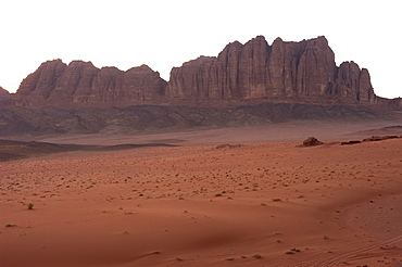
POLYGON ((126 107, 0 109, 0 136, 23 134, 159 132, 193 127, 267 125, 290 120, 352 120, 379 118, 363 105, 263 103, 231 109, 136 105, 126 107))

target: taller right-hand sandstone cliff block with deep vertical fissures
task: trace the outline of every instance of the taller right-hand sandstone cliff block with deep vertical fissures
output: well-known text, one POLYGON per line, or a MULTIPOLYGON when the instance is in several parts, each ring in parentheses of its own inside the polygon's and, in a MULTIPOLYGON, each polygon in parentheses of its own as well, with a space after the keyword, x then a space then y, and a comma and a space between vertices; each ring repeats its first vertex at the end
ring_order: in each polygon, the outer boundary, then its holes
POLYGON ((337 67, 325 37, 268 46, 259 36, 233 42, 217 58, 199 58, 172 69, 166 96, 178 99, 331 97, 375 101, 367 69, 353 62, 337 67))

